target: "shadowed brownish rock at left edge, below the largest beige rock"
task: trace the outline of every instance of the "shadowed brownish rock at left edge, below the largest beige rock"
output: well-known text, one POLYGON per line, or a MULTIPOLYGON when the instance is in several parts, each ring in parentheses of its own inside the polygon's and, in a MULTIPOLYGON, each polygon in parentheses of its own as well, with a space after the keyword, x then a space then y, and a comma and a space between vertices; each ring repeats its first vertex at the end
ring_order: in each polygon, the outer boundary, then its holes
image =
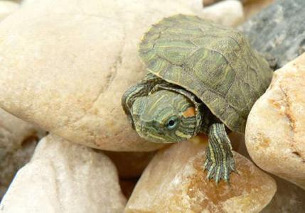
POLYGON ((0 109, 0 200, 44 134, 45 131, 0 109))

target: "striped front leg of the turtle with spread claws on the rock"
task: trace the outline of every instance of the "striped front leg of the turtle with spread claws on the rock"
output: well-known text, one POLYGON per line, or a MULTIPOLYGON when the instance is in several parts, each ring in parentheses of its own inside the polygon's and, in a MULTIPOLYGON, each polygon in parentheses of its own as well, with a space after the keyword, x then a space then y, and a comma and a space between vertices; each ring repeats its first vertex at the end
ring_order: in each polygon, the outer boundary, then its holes
POLYGON ((212 124, 208 129, 208 148, 206 148, 205 170, 208 179, 216 184, 223 179, 229 182, 230 173, 235 171, 232 146, 224 124, 212 124))

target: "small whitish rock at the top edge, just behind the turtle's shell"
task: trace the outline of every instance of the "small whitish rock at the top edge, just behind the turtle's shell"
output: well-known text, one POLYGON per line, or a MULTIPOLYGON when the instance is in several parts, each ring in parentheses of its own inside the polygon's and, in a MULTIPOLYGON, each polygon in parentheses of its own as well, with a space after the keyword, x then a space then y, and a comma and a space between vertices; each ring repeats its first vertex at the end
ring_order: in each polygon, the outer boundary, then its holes
POLYGON ((203 18, 225 26, 237 26, 244 20, 242 4, 237 0, 221 1, 203 9, 203 18))

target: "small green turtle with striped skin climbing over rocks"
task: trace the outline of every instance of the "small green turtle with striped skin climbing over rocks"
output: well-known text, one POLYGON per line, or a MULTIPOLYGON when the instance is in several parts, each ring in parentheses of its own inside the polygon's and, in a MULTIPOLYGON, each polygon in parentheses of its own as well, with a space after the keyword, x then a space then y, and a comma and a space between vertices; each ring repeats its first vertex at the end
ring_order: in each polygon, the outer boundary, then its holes
POLYGON ((228 133, 245 132, 250 109, 272 80, 264 55, 242 32, 183 14, 152 25, 138 55, 147 74, 122 96, 132 127, 154 143, 204 133, 207 178, 230 183, 237 170, 228 133))

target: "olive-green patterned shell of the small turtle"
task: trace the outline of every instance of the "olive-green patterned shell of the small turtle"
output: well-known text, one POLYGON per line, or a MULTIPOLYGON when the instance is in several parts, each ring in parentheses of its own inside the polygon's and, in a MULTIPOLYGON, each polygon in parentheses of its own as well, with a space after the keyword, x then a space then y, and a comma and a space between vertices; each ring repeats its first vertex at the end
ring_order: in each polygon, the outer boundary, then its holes
POLYGON ((232 131, 245 131, 250 109, 272 80, 269 64, 240 31, 197 16, 153 25, 139 57, 149 72, 195 94, 232 131))

